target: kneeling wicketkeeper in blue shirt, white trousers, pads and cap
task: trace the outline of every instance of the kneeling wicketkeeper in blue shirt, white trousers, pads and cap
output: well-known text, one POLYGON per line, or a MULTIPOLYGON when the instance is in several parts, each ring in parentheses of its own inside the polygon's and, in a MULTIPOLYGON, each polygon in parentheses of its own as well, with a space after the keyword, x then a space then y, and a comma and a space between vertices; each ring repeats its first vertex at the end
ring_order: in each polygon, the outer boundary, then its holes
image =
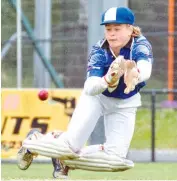
POLYGON ((140 89, 150 78, 152 48, 134 26, 134 14, 112 7, 102 15, 105 37, 93 46, 87 79, 66 132, 34 133, 23 141, 18 165, 29 167, 33 156, 57 158, 69 169, 118 172, 134 167, 126 158, 132 140, 140 89), (84 147, 100 116, 106 142, 84 147))

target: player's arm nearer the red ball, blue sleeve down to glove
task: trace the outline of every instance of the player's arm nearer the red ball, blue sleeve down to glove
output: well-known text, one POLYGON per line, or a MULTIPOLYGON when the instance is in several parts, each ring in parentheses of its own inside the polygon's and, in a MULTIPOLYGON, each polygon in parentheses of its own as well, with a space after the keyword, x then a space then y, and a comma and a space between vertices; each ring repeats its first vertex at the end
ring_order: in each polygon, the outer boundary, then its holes
POLYGON ((122 58, 113 61, 104 75, 106 69, 104 52, 100 50, 100 52, 91 55, 88 62, 87 80, 84 84, 85 93, 93 96, 102 93, 107 88, 109 90, 117 86, 118 79, 123 74, 120 61, 122 58))

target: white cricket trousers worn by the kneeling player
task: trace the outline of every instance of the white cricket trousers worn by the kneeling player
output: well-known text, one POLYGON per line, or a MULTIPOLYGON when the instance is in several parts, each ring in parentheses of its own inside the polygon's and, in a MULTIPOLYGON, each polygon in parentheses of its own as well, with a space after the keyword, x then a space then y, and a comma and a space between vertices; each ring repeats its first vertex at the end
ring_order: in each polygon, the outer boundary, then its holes
MULTIPOLYGON (((129 98, 125 101, 106 97, 103 94, 88 96, 83 92, 67 132, 63 136, 74 151, 80 151, 94 130, 99 117, 103 115, 106 136, 104 150, 109 154, 126 157, 134 132, 140 95, 135 99, 129 98), (133 107, 131 104, 136 106, 133 107)), ((90 148, 95 149, 93 146, 90 148)))

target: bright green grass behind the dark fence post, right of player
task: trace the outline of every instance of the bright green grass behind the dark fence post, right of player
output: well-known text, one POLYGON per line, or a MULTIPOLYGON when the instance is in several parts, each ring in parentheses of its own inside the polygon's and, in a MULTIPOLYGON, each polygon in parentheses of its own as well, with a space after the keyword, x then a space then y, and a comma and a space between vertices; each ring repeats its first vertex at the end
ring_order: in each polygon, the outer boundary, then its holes
MULTIPOLYGON (((177 148, 177 110, 159 109, 156 113, 156 148, 177 148)), ((131 148, 151 146, 151 112, 139 109, 131 148)))

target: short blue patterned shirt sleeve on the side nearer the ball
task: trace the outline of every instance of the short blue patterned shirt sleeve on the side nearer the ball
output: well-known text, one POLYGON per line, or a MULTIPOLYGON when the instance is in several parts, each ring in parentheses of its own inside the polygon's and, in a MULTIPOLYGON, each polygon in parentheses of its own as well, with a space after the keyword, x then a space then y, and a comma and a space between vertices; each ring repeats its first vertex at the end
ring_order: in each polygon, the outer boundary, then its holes
POLYGON ((103 77, 105 73, 106 57, 104 51, 93 49, 90 53, 87 65, 87 78, 91 76, 103 77))

